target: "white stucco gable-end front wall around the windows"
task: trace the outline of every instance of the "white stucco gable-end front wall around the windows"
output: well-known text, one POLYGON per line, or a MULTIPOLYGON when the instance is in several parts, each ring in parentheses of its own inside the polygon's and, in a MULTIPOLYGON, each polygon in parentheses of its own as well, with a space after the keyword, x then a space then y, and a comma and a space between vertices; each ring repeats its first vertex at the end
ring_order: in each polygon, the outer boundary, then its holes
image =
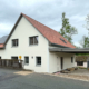
POLYGON ((49 72, 49 52, 48 40, 24 18, 20 20, 11 38, 9 39, 6 49, 0 50, 2 59, 11 59, 11 56, 29 57, 29 65, 24 65, 24 69, 34 70, 36 72, 49 72), (39 36, 37 46, 29 46, 29 37, 39 36), (11 40, 19 39, 19 46, 12 47, 11 40), (36 66, 36 57, 41 57, 41 67, 36 66), (33 59, 32 59, 33 57, 33 59))

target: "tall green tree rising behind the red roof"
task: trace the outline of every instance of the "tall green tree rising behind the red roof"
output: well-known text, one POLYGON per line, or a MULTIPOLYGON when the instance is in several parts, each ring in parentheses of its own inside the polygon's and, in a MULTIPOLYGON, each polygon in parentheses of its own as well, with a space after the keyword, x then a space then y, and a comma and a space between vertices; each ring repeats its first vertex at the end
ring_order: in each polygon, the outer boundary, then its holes
POLYGON ((66 13, 62 13, 62 28, 60 29, 60 34, 63 36, 69 42, 72 43, 72 34, 77 33, 77 29, 69 24, 69 19, 65 17, 66 13))

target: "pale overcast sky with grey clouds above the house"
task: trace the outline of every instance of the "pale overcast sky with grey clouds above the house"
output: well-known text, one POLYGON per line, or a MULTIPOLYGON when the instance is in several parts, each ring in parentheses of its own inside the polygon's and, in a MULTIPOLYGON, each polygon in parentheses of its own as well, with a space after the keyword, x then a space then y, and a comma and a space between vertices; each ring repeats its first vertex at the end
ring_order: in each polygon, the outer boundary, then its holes
POLYGON ((89 0, 0 0, 0 37, 9 34, 21 12, 56 31, 60 30, 61 14, 66 12, 70 24, 78 29, 73 36, 76 46, 88 34, 83 24, 89 14, 89 0))

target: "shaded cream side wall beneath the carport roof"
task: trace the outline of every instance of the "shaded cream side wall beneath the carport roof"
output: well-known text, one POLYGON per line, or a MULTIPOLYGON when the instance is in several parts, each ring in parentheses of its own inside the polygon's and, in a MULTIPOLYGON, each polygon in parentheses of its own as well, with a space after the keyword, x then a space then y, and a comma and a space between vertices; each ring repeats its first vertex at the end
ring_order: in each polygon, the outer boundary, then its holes
POLYGON ((63 57, 63 69, 75 67, 73 53, 49 52, 49 71, 56 72, 61 70, 60 57, 63 57), (71 63, 73 57, 73 63, 71 63))

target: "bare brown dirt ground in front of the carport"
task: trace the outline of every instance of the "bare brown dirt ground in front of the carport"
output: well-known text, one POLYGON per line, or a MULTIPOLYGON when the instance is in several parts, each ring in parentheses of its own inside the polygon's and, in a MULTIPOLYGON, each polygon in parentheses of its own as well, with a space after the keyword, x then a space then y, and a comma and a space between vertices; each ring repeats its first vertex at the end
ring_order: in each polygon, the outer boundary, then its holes
POLYGON ((87 69, 78 69, 78 70, 75 70, 70 73, 60 73, 59 72, 59 73, 56 73, 56 76, 89 81, 89 70, 87 70, 87 69))

